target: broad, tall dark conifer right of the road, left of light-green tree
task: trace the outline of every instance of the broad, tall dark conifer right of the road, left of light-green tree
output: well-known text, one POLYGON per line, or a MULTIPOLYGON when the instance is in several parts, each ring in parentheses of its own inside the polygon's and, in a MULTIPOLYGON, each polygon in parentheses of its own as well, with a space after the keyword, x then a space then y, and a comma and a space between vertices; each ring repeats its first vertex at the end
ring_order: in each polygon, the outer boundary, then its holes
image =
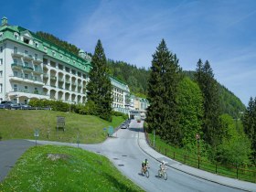
POLYGON ((152 60, 148 81, 150 107, 147 122, 150 130, 156 129, 161 138, 173 144, 180 141, 176 106, 179 77, 178 59, 166 48, 163 39, 156 48, 152 60))

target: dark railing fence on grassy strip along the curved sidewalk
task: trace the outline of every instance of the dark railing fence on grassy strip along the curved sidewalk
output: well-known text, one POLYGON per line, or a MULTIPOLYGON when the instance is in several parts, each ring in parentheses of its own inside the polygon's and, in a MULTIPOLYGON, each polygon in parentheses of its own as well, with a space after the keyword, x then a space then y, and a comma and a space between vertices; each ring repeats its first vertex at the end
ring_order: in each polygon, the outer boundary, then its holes
POLYGON ((234 165, 220 165, 218 163, 214 164, 212 162, 202 160, 199 155, 197 158, 191 155, 183 155, 161 145, 157 146, 155 144, 154 146, 153 142, 148 138, 148 133, 146 133, 146 131, 145 137, 147 143, 156 151, 185 165, 190 165, 198 169, 218 174, 220 176, 229 176, 232 178, 256 183, 256 171, 254 170, 249 170, 234 165))

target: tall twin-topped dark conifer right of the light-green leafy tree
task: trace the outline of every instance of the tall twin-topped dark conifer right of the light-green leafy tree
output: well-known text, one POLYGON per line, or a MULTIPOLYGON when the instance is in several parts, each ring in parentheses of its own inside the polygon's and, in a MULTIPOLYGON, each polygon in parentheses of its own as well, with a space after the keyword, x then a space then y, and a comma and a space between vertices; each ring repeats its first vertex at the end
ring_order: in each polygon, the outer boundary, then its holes
POLYGON ((203 138, 208 144, 217 146, 222 135, 219 123, 219 92, 208 60, 204 65, 198 60, 196 80, 204 97, 203 138))

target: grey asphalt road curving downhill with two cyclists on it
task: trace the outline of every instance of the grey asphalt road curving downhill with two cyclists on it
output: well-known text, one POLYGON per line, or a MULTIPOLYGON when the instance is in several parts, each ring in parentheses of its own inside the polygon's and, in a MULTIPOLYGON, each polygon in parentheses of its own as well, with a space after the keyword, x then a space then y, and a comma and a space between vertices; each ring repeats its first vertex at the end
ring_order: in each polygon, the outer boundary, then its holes
MULTIPOLYGON (((204 179, 190 176, 176 169, 168 168, 168 179, 157 176, 159 162, 146 155, 138 145, 138 132, 142 131, 142 123, 132 121, 129 129, 120 129, 102 144, 86 144, 81 147, 92 152, 107 156, 125 176, 134 183, 143 187, 146 191, 240 191, 232 187, 226 187, 204 179), (149 178, 141 175, 143 160, 149 160, 149 178)), ((168 162, 172 164, 174 162, 168 162)))

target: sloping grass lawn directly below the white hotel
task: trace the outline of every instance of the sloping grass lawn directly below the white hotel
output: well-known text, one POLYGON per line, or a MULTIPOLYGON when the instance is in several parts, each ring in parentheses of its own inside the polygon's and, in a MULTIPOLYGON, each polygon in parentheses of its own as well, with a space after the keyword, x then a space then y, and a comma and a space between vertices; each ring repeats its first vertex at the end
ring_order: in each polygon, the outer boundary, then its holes
POLYGON ((0 110, 0 136, 7 139, 35 139, 34 130, 39 129, 38 140, 77 143, 101 143, 106 138, 104 127, 114 128, 123 123, 123 117, 113 116, 112 123, 99 117, 71 112, 43 110, 0 110), (64 116, 66 131, 56 131, 57 116, 64 116))

